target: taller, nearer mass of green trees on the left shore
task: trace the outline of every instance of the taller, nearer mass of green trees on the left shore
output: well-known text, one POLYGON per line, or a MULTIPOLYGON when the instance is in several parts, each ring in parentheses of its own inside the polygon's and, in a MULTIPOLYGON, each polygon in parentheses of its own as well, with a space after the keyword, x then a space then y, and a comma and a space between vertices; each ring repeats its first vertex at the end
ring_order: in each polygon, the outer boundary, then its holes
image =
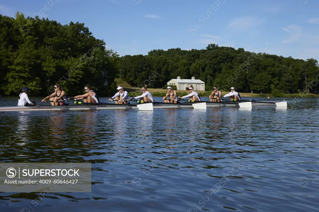
POLYGON ((105 48, 81 23, 61 25, 48 19, 0 15, 1 94, 17 95, 23 86, 32 95, 48 95, 58 83, 68 95, 86 84, 108 95, 118 71, 119 55, 105 48))

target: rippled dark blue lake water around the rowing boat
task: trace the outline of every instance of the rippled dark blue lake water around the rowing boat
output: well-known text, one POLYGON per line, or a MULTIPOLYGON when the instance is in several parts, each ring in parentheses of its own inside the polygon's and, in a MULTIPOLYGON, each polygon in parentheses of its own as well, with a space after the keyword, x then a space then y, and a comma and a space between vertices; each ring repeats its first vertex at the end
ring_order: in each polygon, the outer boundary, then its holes
POLYGON ((316 211, 319 101, 289 101, 287 109, 0 112, 0 145, 18 137, 0 162, 92 163, 91 193, 49 193, 36 206, 39 193, 0 193, 0 211, 316 211))

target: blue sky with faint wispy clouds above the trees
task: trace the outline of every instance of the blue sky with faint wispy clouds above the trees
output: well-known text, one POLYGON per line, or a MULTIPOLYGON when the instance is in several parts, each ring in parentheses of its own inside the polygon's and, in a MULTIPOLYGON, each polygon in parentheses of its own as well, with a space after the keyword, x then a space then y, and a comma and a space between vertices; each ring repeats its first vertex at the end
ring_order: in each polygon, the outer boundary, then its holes
POLYGON ((85 23, 121 56, 215 43, 319 60, 318 7, 317 0, 0 0, 2 15, 85 23))

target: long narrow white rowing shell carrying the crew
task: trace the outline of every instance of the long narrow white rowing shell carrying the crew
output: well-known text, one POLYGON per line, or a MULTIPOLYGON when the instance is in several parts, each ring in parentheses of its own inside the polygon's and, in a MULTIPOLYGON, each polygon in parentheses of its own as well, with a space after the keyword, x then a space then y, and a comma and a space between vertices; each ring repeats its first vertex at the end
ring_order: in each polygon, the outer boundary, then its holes
MULTIPOLYGON (((150 102, 148 102, 150 103, 150 102)), ((116 110, 116 109, 138 109, 137 105, 142 104, 113 104, 113 103, 104 103, 101 105, 65 105, 65 106, 5 106, 0 107, 0 111, 38 111, 38 110, 116 110)), ((166 103, 166 102, 152 102, 153 108, 193 108, 193 103, 166 103)), ((252 106, 259 105, 270 105, 276 106, 274 103, 264 103, 264 102, 252 102, 252 106)), ((206 107, 239 107, 238 102, 209 102, 206 104, 206 107)))

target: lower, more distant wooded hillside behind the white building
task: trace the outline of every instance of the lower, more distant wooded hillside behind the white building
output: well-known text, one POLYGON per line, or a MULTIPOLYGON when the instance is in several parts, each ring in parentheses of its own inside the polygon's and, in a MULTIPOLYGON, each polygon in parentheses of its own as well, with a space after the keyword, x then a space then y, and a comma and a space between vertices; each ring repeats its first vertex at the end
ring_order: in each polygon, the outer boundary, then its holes
POLYGON ((206 49, 190 51, 180 48, 152 50, 148 55, 126 55, 120 60, 121 78, 133 86, 147 84, 163 87, 170 79, 194 76, 213 86, 237 91, 271 93, 317 93, 318 61, 299 60, 265 53, 251 53, 243 48, 219 47, 210 44, 206 49), (306 90, 307 88, 307 90, 306 90))

